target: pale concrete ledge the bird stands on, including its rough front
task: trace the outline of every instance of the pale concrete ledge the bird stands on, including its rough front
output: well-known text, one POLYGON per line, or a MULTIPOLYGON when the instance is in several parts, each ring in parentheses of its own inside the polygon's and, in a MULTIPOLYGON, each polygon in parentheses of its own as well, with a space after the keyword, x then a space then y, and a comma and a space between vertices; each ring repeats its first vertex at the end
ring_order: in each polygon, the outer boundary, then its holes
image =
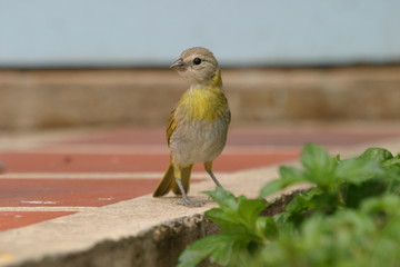
MULTIPOLYGON (((268 167, 219 178, 234 194, 254 197, 276 176, 276 167, 268 167), (251 186, 243 187, 243 179, 251 186)), ((201 191, 212 188, 211 180, 193 185, 190 195, 206 202, 201 208, 179 206, 176 197, 143 196, 2 231, 0 266, 174 266, 187 245, 218 231, 202 216, 214 204, 201 191)))

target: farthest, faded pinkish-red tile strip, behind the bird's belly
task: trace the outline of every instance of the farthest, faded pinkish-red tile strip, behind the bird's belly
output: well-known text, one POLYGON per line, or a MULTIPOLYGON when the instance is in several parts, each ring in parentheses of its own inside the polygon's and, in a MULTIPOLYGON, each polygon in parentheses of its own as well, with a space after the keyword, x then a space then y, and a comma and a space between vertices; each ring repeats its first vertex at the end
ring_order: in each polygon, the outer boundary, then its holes
MULTIPOLYGON (((400 136, 399 130, 368 131, 347 128, 232 128, 228 135, 228 146, 302 146, 317 142, 324 146, 357 145, 382 138, 400 136)), ((96 134, 89 138, 67 140, 71 145, 164 145, 163 129, 119 129, 96 134)))

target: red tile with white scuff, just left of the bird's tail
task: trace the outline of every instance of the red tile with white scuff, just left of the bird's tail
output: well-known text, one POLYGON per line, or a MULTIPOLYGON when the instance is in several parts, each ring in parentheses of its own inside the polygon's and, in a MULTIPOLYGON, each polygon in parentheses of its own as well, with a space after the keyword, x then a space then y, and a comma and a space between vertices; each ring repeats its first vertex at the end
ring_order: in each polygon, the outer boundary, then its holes
POLYGON ((0 179, 0 207, 101 207, 152 192, 158 179, 0 179))

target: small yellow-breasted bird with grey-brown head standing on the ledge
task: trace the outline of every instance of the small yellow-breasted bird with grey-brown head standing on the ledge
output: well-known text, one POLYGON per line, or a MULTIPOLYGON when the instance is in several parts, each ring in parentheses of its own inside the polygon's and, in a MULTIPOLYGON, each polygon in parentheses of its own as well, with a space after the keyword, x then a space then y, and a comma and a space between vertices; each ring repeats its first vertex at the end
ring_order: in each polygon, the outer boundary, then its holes
POLYGON ((221 187, 212 172, 212 161, 227 142, 231 115, 219 65, 211 51, 201 47, 187 49, 171 69, 188 80, 190 88, 170 113, 167 141, 171 161, 153 197, 172 189, 176 195, 182 195, 178 204, 200 207, 203 204, 192 202, 187 196, 192 166, 203 162, 206 171, 221 187))

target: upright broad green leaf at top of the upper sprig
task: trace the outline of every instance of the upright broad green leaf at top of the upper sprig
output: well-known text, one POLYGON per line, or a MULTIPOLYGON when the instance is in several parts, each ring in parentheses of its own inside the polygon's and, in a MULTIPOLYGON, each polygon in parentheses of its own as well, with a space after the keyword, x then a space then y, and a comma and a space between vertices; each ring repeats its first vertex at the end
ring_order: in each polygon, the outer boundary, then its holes
POLYGON ((337 157, 330 157, 322 147, 307 144, 300 156, 304 167, 304 178, 327 189, 334 181, 337 157))

